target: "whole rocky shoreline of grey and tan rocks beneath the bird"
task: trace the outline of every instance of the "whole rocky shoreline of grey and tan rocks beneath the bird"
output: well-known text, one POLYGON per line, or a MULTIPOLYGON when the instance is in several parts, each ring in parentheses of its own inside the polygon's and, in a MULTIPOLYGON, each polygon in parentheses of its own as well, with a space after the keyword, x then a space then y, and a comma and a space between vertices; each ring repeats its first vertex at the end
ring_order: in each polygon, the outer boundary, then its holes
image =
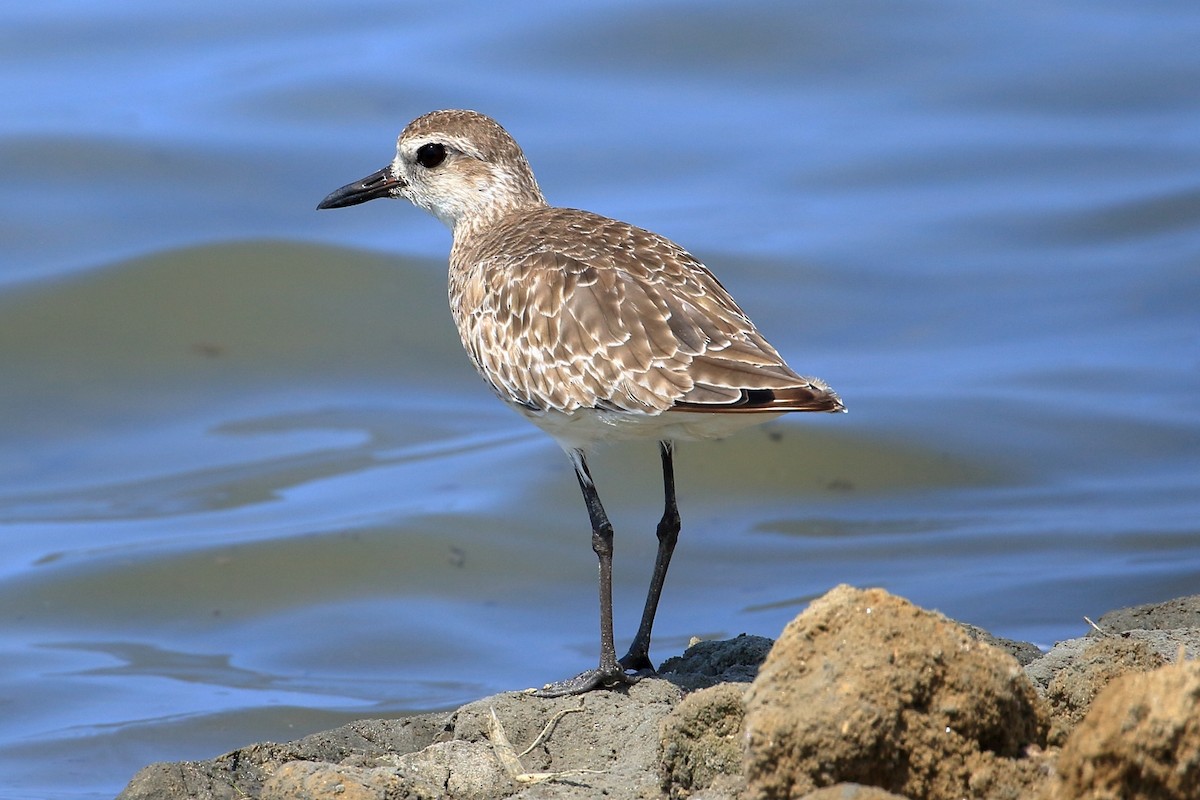
POLYGON ((367 720, 119 800, 1200 796, 1200 595, 1105 614, 1046 654, 838 587, 778 642, 700 642, 656 678, 367 720))

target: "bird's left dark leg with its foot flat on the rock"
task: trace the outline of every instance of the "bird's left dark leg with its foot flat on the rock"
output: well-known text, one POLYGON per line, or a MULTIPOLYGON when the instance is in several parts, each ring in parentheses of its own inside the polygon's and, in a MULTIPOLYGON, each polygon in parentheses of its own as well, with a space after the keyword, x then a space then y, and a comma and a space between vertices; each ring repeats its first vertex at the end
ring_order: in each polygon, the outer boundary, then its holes
POLYGON ((583 492, 583 501, 588 506, 588 518, 592 521, 592 549, 600 560, 600 664, 575 678, 547 684, 536 692, 539 697, 582 694, 602 686, 637 682, 637 676, 626 675, 625 668, 617 661, 617 648, 612 640, 612 523, 608 522, 608 515, 600 504, 600 494, 592 480, 592 473, 588 471, 583 451, 572 450, 570 456, 580 489, 583 492))

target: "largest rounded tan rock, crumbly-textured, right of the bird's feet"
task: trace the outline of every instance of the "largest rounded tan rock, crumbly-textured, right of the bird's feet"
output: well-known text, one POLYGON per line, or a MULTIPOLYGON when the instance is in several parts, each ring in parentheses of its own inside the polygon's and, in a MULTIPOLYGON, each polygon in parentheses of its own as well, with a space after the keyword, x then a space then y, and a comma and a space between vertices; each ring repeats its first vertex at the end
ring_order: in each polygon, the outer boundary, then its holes
POLYGON ((838 587, 788 624, 746 696, 746 796, 858 782, 1015 798, 1046 727, 1012 656, 883 590, 838 587))

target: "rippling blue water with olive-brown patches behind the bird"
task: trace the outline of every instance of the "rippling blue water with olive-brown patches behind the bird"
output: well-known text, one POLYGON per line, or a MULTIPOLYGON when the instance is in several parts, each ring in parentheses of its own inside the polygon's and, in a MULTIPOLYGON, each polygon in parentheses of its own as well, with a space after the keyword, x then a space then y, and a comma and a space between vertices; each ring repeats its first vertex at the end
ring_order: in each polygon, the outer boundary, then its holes
MULTIPOLYGON (((839 582, 1043 645, 1200 589, 1194 4, 0 19, 5 800, 595 657, 582 503, 460 353, 448 233, 313 210, 433 108, 685 243, 850 407, 680 447, 660 657, 839 582)), ((594 462, 622 642, 656 462, 594 462)))

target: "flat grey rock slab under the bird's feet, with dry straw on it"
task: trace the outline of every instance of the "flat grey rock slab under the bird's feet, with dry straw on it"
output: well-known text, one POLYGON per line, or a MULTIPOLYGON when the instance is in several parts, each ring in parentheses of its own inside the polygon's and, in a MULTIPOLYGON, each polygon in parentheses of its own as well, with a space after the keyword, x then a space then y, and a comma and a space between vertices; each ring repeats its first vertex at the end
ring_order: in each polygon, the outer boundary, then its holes
MULTIPOLYGON (((744 645, 731 652, 748 652, 744 645)), ((152 764, 120 800, 658 796, 659 724, 682 698, 660 678, 581 697, 496 694, 452 714, 356 722, 209 762, 152 764), (514 748, 514 772, 498 758, 493 711, 514 748)))

